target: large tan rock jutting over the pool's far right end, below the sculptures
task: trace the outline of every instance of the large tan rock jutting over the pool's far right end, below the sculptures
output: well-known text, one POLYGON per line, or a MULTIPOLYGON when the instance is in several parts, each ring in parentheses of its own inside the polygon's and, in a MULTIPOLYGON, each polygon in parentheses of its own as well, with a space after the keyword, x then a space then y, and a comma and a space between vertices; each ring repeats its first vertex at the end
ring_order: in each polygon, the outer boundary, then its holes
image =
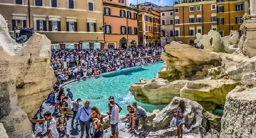
POLYGON ((175 41, 166 45, 165 51, 162 52, 161 59, 165 61, 167 70, 158 72, 159 78, 204 78, 208 74, 208 69, 221 65, 221 58, 217 55, 175 41))

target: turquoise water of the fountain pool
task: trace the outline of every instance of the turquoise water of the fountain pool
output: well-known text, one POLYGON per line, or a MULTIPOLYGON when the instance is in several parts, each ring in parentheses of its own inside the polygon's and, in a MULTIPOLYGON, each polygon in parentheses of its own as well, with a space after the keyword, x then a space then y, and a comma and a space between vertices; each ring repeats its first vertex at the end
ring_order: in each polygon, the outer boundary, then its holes
MULTIPOLYGON (((126 114, 126 106, 135 102, 134 96, 129 92, 132 83, 138 82, 140 78, 152 79, 162 68, 163 63, 155 63, 147 66, 138 66, 130 69, 111 72, 97 78, 80 80, 79 82, 66 85, 70 88, 74 98, 81 98, 83 101, 90 101, 90 106, 96 106, 100 112, 108 112, 108 97, 114 96, 116 103, 122 108, 121 114, 126 114)), ((163 109, 166 105, 152 105, 140 103, 146 111, 163 109)))

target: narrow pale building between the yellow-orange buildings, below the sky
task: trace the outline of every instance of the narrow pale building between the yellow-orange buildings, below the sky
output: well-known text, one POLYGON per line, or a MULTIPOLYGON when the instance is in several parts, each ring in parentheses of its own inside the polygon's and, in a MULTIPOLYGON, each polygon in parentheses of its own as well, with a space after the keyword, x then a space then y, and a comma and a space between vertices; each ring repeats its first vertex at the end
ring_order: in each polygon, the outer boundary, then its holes
POLYGON ((174 11, 173 6, 164 6, 161 11, 161 46, 174 40, 174 11))

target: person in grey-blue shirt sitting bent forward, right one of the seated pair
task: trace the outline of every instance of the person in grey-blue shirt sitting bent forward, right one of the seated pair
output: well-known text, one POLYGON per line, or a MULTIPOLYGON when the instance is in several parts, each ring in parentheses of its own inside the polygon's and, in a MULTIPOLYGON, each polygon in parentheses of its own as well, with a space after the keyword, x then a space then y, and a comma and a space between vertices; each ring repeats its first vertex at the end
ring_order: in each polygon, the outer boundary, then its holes
POLYGON ((135 129, 134 129, 134 126, 136 124, 136 121, 140 120, 140 119, 143 119, 143 118, 146 118, 147 117, 147 113, 145 111, 145 109, 143 109, 141 106, 137 106, 137 103, 134 102, 132 104, 132 106, 135 108, 135 111, 131 116, 134 116, 132 118, 132 126, 131 126, 131 129, 128 130, 128 132, 133 132, 135 129), (137 115, 137 116, 135 116, 137 115))

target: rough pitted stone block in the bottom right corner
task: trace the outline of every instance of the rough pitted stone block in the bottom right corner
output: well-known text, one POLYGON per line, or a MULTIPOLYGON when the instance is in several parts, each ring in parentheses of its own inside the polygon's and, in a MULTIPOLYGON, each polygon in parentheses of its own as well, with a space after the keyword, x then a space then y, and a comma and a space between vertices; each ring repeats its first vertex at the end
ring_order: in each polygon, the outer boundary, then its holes
POLYGON ((220 138, 256 138, 256 88, 237 86, 226 98, 220 138))

